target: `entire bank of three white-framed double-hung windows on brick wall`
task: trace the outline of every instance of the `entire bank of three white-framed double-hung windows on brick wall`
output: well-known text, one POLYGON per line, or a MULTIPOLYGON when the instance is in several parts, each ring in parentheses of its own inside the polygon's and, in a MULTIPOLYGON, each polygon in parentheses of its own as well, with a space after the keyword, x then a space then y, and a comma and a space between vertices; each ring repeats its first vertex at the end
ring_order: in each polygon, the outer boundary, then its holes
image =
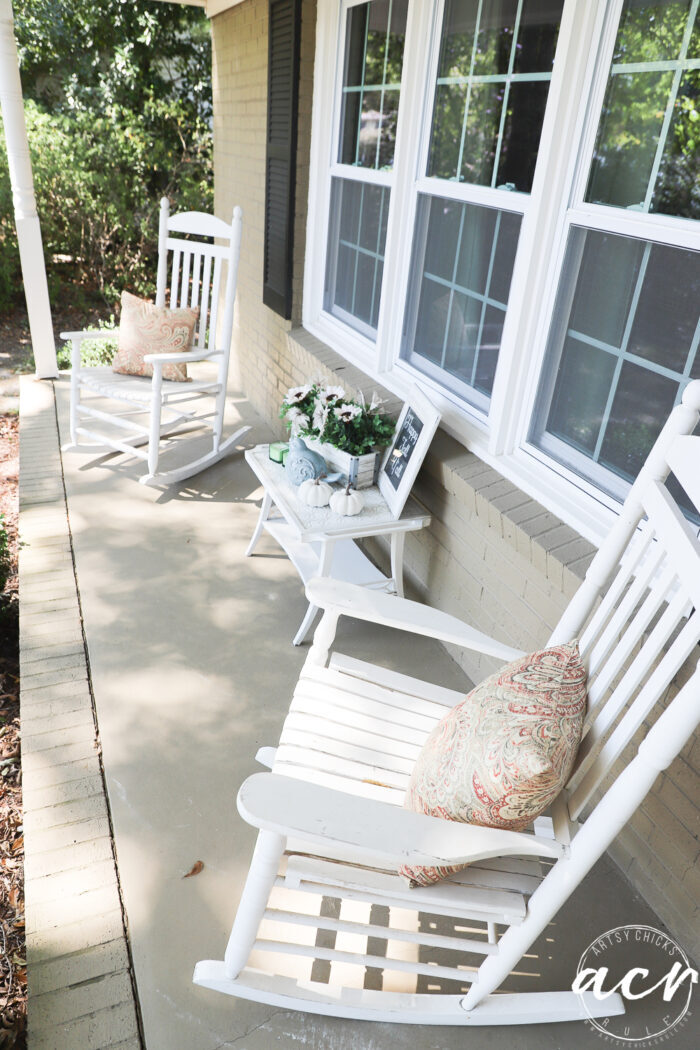
POLYGON ((700 377, 699 6, 319 0, 304 323, 579 527, 700 377))

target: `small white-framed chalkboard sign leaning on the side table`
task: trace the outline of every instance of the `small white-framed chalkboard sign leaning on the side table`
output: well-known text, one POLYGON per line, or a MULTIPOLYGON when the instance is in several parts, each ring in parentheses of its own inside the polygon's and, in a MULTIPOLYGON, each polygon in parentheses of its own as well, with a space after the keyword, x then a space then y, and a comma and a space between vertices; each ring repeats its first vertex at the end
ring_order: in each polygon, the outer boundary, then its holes
POLYGON ((440 413, 413 387, 379 471, 379 490, 395 518, 401 516, 439 423, 440 413))

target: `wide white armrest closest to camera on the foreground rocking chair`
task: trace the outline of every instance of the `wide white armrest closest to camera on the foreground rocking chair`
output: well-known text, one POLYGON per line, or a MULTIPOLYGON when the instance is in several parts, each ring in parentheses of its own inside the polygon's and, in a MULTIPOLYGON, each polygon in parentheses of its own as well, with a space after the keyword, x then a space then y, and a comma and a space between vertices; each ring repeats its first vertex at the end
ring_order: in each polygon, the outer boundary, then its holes
POLYGON ((555 839, 460 824, 277 773, 254 773, 238 792, 249 824, 284 838, 357 847, 399 867, 469 864, 489 857, 567 855, 555 839))

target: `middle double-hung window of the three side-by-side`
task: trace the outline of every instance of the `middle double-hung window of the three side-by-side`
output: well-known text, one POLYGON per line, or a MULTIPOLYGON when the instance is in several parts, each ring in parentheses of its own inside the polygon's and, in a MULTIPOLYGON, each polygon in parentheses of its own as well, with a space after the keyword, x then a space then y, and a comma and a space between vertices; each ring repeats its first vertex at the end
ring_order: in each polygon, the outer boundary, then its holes
POLYGON ((444 9, 401 356, 488 412, 564 0, 444 9))

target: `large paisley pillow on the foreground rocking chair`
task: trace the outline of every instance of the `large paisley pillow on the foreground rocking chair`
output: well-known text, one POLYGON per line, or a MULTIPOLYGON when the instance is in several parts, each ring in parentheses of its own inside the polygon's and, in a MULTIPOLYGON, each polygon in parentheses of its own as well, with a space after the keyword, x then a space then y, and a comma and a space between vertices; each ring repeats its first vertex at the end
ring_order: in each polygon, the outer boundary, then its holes
MULTIPOLYGON (((418 756, 407 810, 467 824, 524 831, 566 784, 586 713, 576 642, 519 657, 436 726, 418 756)), ((427 886, 462 866, 400 869, 427 886)))

